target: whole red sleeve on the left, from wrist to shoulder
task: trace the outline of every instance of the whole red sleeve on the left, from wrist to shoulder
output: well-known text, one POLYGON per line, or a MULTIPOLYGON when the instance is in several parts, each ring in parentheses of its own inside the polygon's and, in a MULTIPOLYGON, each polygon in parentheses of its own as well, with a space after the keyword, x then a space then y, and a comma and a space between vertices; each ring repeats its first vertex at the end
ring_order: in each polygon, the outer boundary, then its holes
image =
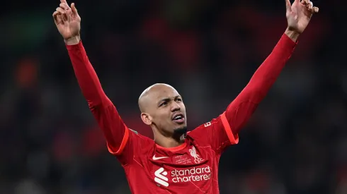
POLYGON ((82 42, 66 46, 79 87, 98 126, 103 131, 108 151, 116 156, 121 156, 122 164, 127 164, 130 162, 128 159, 132 158, 132 154, 134 154, 132 146, 140 146, 141 143, 145 143, 144 138, 125 126, 115 105, 103 91, 82 42))

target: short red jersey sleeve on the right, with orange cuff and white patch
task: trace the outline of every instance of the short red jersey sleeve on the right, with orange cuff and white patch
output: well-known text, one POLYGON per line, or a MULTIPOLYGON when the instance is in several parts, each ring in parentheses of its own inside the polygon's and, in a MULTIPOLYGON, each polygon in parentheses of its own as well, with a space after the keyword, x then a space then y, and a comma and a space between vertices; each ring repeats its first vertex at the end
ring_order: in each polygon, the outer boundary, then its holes
POLYGON ((239 143, 239 135, 232 133, 232 128, 225 112, 212 121, 198 126, 188 135, 200 146, 210 146, 216 153, 221 153, 229 145, 239 143))

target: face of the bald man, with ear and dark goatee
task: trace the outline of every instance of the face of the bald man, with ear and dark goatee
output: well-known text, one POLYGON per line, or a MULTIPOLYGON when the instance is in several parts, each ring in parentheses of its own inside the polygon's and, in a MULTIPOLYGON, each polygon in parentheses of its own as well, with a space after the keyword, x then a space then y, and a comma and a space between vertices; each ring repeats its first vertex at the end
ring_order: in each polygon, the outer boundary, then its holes
POLYGON ((142 120, 154 125, 166 136, 186 132, 186 107, 181 95, 169 85, 156 85, 149 90, 146 112, 142 120))

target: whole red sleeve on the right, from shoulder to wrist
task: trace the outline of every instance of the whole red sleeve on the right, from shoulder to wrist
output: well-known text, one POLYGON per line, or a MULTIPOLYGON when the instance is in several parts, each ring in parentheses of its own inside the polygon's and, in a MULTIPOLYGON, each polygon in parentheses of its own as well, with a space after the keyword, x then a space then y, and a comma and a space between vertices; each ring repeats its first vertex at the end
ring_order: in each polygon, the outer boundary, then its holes
POLYGON ((216 152, 222 152, 229 145, 237 144, 239 131, 275 83, 296 45, 297 42, 283 34, 271 54, 226 111, 188 134, 200 143, 210 145, 216 152))

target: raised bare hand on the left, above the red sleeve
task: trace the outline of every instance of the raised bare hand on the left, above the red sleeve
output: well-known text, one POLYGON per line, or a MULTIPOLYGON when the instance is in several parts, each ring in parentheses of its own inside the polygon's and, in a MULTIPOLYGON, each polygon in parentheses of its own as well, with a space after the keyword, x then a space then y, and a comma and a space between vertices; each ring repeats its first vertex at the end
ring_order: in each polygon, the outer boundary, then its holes
POLYGON ((80 40, 81 17, 77 13, 74 3, 71 8, 66 0, 60 0, 60 5, 53 13, 55 25, 67 44, 78 44, 80 40))

